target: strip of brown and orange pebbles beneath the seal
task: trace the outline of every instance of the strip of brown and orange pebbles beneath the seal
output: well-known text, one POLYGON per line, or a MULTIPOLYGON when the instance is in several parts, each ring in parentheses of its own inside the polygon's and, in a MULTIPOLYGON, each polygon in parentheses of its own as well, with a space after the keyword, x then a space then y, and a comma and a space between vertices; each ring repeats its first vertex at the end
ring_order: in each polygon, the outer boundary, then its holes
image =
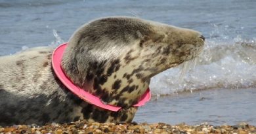
POLYGON ((188 126, 186 124, 177 124, 175 126, 165 123, 156 124, 137 124, 136 122, 129 124, 115 123, 89 123, 85 120, 70 122, 65 124, 47 123, 45 126, 32 125, 14 125, 10 127, 1 127, 1 133, 56 133, 56 134, 71 134, 71 133, 183 133, 183 134, 203 134, 203 133, 256 133, 256 127, 246 123, 240 123, 235 126, 213 126, 203 123, 196 126, 188 126))

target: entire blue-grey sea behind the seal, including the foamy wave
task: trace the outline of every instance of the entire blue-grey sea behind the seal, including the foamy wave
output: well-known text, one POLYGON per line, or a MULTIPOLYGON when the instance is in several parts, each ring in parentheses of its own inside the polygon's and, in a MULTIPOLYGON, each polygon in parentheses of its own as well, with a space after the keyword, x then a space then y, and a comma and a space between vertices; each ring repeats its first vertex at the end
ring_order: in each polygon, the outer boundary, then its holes
POLYGON ((0 0, 0 56, 68 41, 104 16, 137 16, 202 32, 196 62, 151 80, 152 101, 135 122, 256 125, 256 1, 0 0), (181 74, 181 70, 183 75, 181 74))

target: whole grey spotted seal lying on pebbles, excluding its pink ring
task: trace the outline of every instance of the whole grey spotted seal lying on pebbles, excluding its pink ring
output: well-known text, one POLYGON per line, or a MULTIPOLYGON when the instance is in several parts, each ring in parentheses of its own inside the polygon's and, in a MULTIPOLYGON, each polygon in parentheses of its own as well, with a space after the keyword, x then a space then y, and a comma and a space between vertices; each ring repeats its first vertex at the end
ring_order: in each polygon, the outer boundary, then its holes
POLYGON ((70 38, 62 69, 80 88, 112 112, 82 101, 58 80, 53 48, 39 47, 0 57, 0 126, 46 122, 131 122, 133 104, 150 78, 200 53, 204 39, 190 29, 130 17, 100 18, 70 38))

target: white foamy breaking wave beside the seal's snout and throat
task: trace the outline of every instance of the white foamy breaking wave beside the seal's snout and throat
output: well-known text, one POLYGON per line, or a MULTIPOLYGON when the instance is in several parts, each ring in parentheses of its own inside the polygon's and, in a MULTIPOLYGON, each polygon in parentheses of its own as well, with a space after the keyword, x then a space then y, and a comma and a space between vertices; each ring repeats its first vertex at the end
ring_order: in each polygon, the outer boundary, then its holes
POLYGON ((211 88, 256 87, 255 39, 221 42, 209 39, 196 65, 189 64, 182 80, 183 66, 168 69, 154 76, 150 83, 153 95, 168 95, 211 88))

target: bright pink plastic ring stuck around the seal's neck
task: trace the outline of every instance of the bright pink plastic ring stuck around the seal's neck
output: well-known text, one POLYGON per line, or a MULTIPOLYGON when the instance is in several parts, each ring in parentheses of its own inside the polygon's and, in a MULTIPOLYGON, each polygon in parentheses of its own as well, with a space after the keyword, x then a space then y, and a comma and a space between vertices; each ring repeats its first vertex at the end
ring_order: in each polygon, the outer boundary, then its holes
MULTIPOLYGON (((64 54, 64 50, 66 49, 68 43, 60 44, 54 52, 52 56, 52 65, 53 65, 53 70, 56 76, 60 79, 62 84, 66 86, 72 93, 77 95, 79 98, 83 99, 87 103, 91 103, 92 105, 95 105, 97 107, 100 107, 102 109, 106 110, 111 110, 111 111, 118 111, 122 109, 122 107, 116 107, 114 105, 108 105, 104 102, 102 102, 99 97, 96 97, 95 95, 92 95, 91 93, 85 91, 85 89, 79 88, 79 86, 76 86, 70 78, 68 78, 62 67, 61 67, 61 61, 62 61, 62 56, 64 54)), ((151 93, 150 89, 148 88, 146 92, 140 97, 139 101, 137 104, 133 105, 134 107, 140 107, 144 105, 146 102, 150 100, 151 93)))

